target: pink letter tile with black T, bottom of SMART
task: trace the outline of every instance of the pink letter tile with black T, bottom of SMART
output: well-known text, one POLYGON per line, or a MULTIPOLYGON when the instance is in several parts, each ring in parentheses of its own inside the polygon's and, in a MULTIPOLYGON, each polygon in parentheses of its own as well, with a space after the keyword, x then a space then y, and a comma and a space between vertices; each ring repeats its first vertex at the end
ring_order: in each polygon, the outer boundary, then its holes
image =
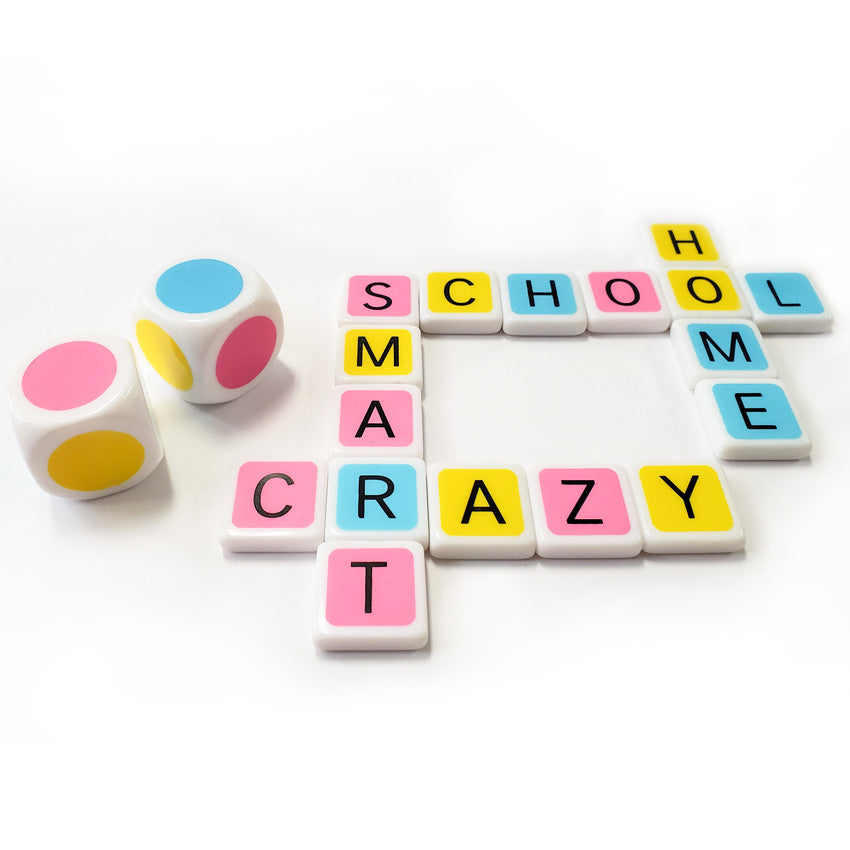
POLYGON ((421 649, 428 643, 425 553, 418 543, 323 543, 316 560, 313 642, 319 649, 421 649))

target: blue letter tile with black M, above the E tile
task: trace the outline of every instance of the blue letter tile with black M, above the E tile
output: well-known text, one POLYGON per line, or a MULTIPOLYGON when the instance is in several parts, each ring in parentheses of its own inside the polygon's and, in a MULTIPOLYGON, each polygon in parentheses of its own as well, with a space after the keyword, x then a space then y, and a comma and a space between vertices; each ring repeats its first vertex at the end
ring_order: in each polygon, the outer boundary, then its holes
POLYGON ((688 386, 710 378, 775 378, 758 327, 746 319, 677 319, 670 340, 688 386))

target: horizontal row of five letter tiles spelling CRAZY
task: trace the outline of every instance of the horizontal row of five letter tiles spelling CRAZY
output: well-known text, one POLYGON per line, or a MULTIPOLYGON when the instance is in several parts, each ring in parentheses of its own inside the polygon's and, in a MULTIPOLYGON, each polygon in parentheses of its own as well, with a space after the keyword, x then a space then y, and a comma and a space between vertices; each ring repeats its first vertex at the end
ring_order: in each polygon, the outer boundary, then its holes
POLYGON ((710 464, 453 467, 422 458, 249 461, 221 543, 314 551, 323 541, 412 540, 436 558, 629 558, 744 545, 710 464))

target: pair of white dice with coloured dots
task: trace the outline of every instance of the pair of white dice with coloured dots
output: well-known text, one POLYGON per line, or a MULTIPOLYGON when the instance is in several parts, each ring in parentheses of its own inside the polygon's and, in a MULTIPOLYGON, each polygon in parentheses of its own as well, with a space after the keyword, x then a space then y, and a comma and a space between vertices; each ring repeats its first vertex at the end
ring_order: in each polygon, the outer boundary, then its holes
MULTIPOLYGON (((135 332, 154 369, 189 401, 242 395, 266 374, 283 317, 266 282, 242 263, 188 260, 142 287, 135 332)), ((73 499, 139 483, 162 445, 129 343, 62 340, 27 360, 10 390, 12 420, 33 477, 73 499)))

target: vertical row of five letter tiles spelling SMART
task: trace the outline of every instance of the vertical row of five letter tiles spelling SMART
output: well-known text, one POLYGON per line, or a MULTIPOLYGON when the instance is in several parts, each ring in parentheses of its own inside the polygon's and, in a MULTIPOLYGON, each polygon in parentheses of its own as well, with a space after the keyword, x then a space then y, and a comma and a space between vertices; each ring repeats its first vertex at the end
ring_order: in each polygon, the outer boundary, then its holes
POLYGON ((428 513, 416 278, 348 277, 339 324, 313 641, 323 650, 420 649, 428 513))

